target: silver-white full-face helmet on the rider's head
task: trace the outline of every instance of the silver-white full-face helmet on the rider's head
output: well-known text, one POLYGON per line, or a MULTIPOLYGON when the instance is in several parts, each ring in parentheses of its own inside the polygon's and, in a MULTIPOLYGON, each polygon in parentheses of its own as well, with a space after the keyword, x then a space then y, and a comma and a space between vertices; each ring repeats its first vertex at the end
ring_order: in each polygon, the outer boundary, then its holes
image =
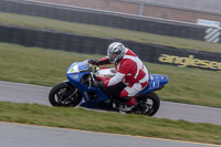
POLYGON ((120 42, 109 44, 107 56, 112 63, 118 62, 125 55, 125 46, 120 42))

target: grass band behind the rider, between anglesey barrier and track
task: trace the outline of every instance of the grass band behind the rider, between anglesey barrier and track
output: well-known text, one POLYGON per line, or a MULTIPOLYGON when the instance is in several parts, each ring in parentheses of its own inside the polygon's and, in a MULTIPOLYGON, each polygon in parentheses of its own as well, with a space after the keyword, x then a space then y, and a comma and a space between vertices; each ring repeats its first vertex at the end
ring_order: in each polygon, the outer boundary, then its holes
MULTIPOLYGON (((54 86, 66 80, 76 61, 103 55, 70 53, 0 43, 0 80, 54 86)), ((145 63, 149 73, 168 75, 169 83, 157 94, 162 101, 221 107, 220 72, 145 63)))

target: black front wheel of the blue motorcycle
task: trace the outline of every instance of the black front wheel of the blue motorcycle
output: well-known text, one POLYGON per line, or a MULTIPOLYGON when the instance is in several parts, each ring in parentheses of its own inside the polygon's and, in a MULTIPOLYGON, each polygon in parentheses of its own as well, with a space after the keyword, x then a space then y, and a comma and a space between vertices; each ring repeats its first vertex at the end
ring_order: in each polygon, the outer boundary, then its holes
POLYGON ((82 101, 82 95, 70 82, 55 85, 49 93, 49 102, 52 106, 77 106, 82 101))

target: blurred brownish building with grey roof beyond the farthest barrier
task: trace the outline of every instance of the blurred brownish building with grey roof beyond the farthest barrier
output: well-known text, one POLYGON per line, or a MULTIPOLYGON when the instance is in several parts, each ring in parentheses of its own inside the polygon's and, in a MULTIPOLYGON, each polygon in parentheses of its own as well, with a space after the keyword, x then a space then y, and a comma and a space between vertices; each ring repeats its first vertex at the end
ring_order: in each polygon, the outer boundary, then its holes
POLYGON ((66 6, 152 17, 173 21, 201 23, 220 27, 221 2, 219 0, 39 0, 66 6), (206 24, 206 23, 204 23, 206 24))

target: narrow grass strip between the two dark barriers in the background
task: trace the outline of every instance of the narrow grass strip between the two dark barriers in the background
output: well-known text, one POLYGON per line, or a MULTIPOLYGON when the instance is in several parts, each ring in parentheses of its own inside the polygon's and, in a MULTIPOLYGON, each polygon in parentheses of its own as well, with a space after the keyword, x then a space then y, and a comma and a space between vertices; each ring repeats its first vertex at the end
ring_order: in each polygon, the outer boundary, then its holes
POLYGON ((14 13, 0 12, 0 24, 56 30, 56 31, 72 32, 92 36, 131 40, 143 43, 154 43, 168 46, 221 53, 221 44, 215 44, 215 43, 170 38, 165 35, 157 35, 157 34, 129 31, 123 29, 114 29, 107 27, 71 23, 71 22, 57 21, 39 17, 14 14, 14 13))

